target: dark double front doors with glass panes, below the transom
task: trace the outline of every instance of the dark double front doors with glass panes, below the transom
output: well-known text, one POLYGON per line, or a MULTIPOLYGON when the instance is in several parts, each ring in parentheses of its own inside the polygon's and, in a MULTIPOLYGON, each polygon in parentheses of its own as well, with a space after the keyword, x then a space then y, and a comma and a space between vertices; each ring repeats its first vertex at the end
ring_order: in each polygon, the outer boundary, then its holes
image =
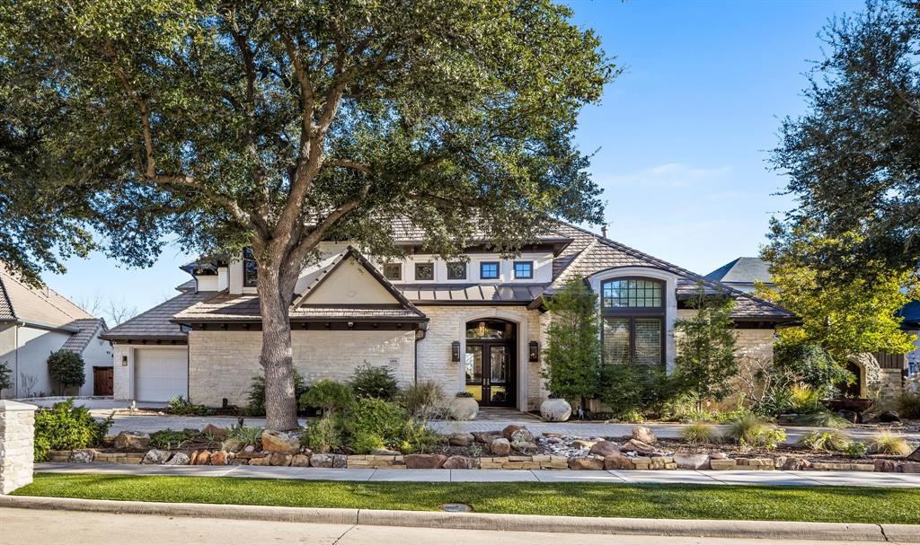
POLYGON ((466 341, 466 392, 484 407, 514 406, 514 344, 466 341))

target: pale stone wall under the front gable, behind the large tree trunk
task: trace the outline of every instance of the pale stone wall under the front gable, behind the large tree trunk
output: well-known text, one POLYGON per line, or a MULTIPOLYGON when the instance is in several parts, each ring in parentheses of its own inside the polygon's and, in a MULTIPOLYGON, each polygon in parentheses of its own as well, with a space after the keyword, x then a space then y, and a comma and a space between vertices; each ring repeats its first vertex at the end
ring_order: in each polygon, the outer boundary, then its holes
MULTIPOLYGON (((261 373, 261 332, 192 331, 189 334, 189 397, 219 406, 223 398, 247 403, 252 378, 261 373)), ((344 381, 368 362, 389 366, 400 385, 415 377, 413 331, 293 331, 293 364, 308 384, 344 381), (391 359, 396 362, 391 364, 391 359)))

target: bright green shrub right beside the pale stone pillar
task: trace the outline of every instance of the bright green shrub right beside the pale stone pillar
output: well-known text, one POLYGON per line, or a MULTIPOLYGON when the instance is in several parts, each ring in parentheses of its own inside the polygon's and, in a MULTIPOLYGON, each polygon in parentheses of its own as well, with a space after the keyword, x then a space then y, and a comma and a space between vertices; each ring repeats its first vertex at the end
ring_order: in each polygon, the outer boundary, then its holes
POLYGON ((75 407, 74 400, 40 409, 35 413, 35 460, 45 460, 49 450, 95 447, 102 443, 113 422, 110 415, 97 422, 86 407, 75 407))

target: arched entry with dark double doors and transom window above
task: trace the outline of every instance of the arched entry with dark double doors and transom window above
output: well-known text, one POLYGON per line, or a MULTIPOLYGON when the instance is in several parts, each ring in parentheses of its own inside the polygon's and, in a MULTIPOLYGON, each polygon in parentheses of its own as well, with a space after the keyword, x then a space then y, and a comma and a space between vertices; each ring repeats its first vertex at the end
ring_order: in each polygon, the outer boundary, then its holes
POLYGON ((466 323, 466 392, 484 407, 516 404, 517 326, 498 319, 466 323))

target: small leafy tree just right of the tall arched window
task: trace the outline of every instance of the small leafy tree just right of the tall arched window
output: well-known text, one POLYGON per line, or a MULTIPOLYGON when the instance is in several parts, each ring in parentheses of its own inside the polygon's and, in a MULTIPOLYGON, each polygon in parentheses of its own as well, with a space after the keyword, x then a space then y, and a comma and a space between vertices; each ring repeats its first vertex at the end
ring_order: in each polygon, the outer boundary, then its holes
POLYGON ((704 401, 722 401, 732 391, 728 378, 738 370, 737 341, 730 317, 735 303, 727 297, 705 297, 700 293, 690 304, 696 314, 674 323, 675 380, 696 400, 696 409, 702 410, 704 401))

